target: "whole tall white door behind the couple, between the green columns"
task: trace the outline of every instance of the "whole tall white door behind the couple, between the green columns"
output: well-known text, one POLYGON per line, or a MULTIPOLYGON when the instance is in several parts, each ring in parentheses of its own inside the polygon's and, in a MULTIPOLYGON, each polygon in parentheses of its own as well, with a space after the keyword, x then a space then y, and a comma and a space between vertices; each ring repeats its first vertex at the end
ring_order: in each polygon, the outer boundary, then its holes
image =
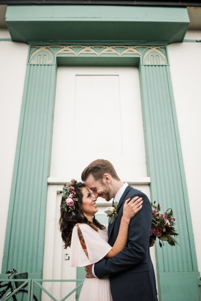
MULTIPOLYGON (((80 181, 95 159, 111 161, 122 181, 149 196, 137 67, 58 68, 43 278, 76 277, 65 260, 70 250, 62 248, 59 191, 72 178, 80 181)), ((97 203, 98 214, 105 214, 109 204, 101 198, 97 203)), ((73 285, 51 289, 61 298, 73 285)))

